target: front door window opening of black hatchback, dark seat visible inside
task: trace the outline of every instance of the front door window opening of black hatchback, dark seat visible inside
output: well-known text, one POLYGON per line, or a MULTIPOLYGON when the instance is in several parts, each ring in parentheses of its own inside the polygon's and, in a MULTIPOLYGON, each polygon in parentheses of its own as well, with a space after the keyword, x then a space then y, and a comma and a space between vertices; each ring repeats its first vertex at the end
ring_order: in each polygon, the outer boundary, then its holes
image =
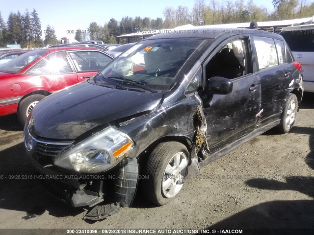
POLYGON ((206 65, 206 79, 214 76, 233 79, 250 73, 247 42, 247 38, 241 38, 225 44, 206 65))

